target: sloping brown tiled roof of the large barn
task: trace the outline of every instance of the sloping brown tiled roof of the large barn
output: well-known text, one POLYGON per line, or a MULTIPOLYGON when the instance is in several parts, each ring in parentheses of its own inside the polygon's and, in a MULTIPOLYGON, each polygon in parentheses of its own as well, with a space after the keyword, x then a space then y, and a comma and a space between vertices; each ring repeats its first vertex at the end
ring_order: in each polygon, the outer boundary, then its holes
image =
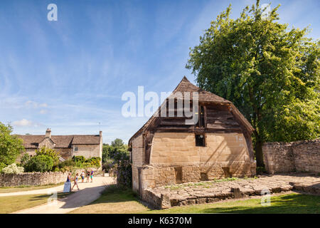
MULTIPOLYGON (((193 92, 198 92, 198 102, 199 103, 217 103, 217 104, 226 104, 226 105, 230 105, 230 108, 232 108, 233 113, 235 113, 235 115, 238 115, 238 117, 240 118, 240 121, 242 122, 243 125, 245 125, 245 128, 247 128, 247 130, 249 130, 250 132, 252 132, 254 130, 254 128, 252 128, 252 125, 249 123, 249 121, 247 121, 247 119, 242 115, 242 113, 240 113, 240 111, 238 110, 238 108, 235 107, 235 105, 233 105, 233 103, 230 100, 226 100, 224 98, 221 98, 218 95, 215 95, 214 93, 210 93, 206 90, 203 90, 201 88, 198 88, 198 86, 193 85, 190 81, 188 81, 188 78, 186 78, 186 76, 183 76, 182 80, 180 81, 180 83, 178 83, 178 86, 176 86, 176 88, 174 89, 174 91, 171 93, 171 95, 169 95, 169 98, 176 95, 177 92, 181 92, 184 98, 184 92, 190 92, 190 99, 193 98, 193 92)), ((166 104, 166 100, 164 100, 164 103, 161 104, 165 105, 166 104)), ((156 112, 154 113, 154 115, 151 116, 151 118, 149 118, 148 121, 146 121, 146 123, 144 123, 144 125, 142 126, 142 128, 140 128, 137 133, 135 133, 132 138, 129 139, 129 144, 132 141, 133 138, 137 137, 138 135, 140 135, 141 133, 144 132, 144 130, 146 130, 146 128, 149 127, 149 125, 151 125, 151 123, 154 122, 154 120, 156 120, 156 113, 159 113, 159 110, 161 110, 161 106, 158 108, 158 110, 156 110, 156 112)))

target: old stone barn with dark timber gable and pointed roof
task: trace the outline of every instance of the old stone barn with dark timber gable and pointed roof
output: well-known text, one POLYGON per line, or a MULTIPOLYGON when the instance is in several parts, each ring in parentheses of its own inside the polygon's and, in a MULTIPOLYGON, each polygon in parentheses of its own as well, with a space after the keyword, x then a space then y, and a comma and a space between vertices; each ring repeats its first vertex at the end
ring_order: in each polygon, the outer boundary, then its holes
MULTIPOLYGON (((191 105, 188 107, 193 108, 191 105)), ((179 106, 181 107, 181 106, 179 106)), ((185 108, 186 106, 183 106, 185 108)), ((190 118, 190 117, 189 117, 190 118)), ((132 188, 144 189, 181 182, 255 175, 256 162, 251 134, 254 129, 229 100, 194 86, 186 77, 164 100, 154 115, 129 140, 132 188), (188 93, 189 92, 189 93, 188 93), (197 93, 195 93, 197 92, 197 93), (178 116, 177 94, 198 94, 198 122, 186 124, 178 116), (174 108, 169 106, 174 98, 174 108), (174 109, 174 117, 163 115, 174 109)))

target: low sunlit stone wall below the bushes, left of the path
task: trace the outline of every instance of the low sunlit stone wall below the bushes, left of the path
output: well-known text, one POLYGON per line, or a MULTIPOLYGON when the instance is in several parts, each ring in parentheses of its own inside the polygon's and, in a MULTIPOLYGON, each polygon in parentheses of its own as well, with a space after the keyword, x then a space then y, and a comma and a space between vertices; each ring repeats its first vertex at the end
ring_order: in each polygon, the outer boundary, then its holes
MULTIPOLYGON (((85 170, 85 169, 83 169, 85 170)), ((91 170, 91 169, 90 169, 91 170)), ((92 168, 97 171, 97 169, 92 168)), ((82 170, 73 170, 80 173, 82 170)), ((0 186, 20 186, 20 185, 50 185, 65 182, 69 172, 23 172, 21 174, 0 174, 0 186)))

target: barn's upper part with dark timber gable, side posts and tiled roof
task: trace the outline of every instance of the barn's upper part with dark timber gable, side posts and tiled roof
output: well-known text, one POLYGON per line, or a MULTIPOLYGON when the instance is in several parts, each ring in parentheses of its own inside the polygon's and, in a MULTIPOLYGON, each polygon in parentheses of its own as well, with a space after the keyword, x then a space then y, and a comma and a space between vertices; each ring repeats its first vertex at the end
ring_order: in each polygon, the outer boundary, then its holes
MULTIPOLYGON (((166 98, 156 113, 149 118, 149 120, 135 133, 129 140, 129 147, 132 147, 132 141, 139 135, 143 135, 144 138, 144 165, 150 163, 151 145, 154 137, 154 133, 242 133, 245 137, 247 150, 250 155, 250 161, 255 160, 253 147, 252 147, 252 132, 255 130, 250 125, 249 121, 240 113, 238 108, 233 105, 229 100, 219 97, 213 93, 209 93, 206 90, 202 90, 197 86, 194 86, 186 77, 183 77, 181 82, 171 93, 169 98, 166 98), (174 117, 161 116, 161 108, 166 107, 167 113, 169 112, 168 103, 169 98, 176 97, 176 93, 190 92, 191 99, 194 92, 198 93, 198 108, 194 110, 194 113, 198 113, 200 116, 201 110, 204 115, 204 126, 199 126, 198 123, 194 125, 186 125, 186 117, 177 117, 178 110, 175 108, 174 117), (203 109, 201 109, 203 107, 203 109)), ((184 98, 184 97, 183 97, 184 98)), ((182 99, 183 99, 182 98, 182 99)), ((175 100, 178 103, 177 98, 175 100)), ((181 101, 181 100, 179 100, 181 101)), ((191 104, 192 107, 192 104, 191 104)))

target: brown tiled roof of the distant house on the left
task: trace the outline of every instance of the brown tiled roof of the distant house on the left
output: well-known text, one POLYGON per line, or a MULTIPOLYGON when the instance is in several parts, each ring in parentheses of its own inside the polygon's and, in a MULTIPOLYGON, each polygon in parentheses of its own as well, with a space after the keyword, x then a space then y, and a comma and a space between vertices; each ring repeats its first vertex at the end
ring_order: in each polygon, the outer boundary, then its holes
MULTIPOLYGON (((17 135, 23 140, 23 147, 38 148, 46 135, 17 135)), ((51 140, 55 143, 56 148, 70 148, 72 145, 96 145, 100 144, 100 135, 52 135, 51 140)))

